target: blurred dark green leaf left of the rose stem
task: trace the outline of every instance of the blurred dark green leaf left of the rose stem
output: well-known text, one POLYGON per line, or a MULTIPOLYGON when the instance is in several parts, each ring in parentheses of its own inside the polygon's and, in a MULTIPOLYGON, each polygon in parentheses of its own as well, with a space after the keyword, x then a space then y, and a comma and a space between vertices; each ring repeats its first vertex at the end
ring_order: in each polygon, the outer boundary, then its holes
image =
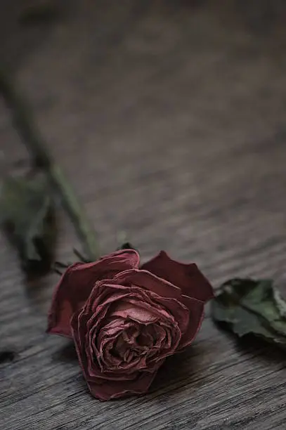
POLYGON ((26 271, 50 268, 56 222, 45 178, 6 179, 1 189, 0 222, 18 248, 26 271))

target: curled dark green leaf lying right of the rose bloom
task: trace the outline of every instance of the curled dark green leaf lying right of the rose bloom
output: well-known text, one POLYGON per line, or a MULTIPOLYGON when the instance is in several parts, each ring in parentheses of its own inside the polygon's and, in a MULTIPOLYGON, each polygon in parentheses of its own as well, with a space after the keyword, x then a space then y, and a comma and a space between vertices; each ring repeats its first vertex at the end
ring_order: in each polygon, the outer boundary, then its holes
POLYGON ((286 348, 286 301, 271 280, 224 282, 212 301, 212 318, 239 337, 254 334, 286 348))

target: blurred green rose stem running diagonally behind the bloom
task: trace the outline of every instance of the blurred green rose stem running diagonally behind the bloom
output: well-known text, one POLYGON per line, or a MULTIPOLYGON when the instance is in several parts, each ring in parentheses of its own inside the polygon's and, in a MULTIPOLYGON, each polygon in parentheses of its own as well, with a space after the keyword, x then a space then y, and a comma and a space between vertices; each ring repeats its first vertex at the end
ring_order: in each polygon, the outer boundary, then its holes
POLYGON ((91 261, 98 259, 100 254, 97 247, 96 233, 91 227, 84 209, 77 200, 77 196, 74 195, 74 191, 65 178, 63 171, 53 160, 53 157, 48 154, 46 143, 34 122, 30 106, 4 70, 0 70, 0 93, 12 112, 15 129, 34 159, 34 166, 44 169, 51 185, 60 195, 63 207, 70 216, 77 235, 83 242, 86 257, 91 261))

